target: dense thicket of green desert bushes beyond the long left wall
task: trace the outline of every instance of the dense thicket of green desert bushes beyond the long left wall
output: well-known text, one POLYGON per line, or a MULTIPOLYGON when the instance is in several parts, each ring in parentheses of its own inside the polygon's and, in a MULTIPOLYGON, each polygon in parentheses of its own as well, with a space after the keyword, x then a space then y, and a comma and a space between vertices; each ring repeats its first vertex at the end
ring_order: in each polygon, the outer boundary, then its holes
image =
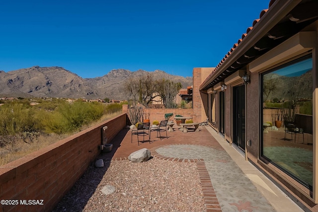
POLYGON ((72 133, 100 119, 105 110, 98 102, 42 101, 31 106, 25 99, 17 100, 0 107, 0 136, 22 132, 72 133))

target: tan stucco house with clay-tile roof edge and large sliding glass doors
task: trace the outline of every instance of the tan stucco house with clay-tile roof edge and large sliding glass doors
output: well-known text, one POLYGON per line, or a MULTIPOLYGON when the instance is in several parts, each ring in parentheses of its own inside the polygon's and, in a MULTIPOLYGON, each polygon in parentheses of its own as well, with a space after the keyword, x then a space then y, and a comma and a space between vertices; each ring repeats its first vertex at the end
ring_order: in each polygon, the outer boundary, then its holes
POLYGON ((318 211, 318 1, 271 0, 215 68, 193 69, 193 110, 318 211))

